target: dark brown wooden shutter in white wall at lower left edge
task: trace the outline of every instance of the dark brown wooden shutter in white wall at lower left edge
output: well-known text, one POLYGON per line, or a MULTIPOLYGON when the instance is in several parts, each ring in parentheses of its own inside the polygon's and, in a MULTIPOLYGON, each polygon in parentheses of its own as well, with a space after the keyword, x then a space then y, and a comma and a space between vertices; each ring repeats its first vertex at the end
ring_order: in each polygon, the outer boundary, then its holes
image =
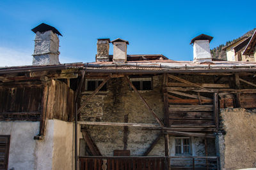
POLYGON ((10 136, 0 135, 0 170, 7 170, 10 136))

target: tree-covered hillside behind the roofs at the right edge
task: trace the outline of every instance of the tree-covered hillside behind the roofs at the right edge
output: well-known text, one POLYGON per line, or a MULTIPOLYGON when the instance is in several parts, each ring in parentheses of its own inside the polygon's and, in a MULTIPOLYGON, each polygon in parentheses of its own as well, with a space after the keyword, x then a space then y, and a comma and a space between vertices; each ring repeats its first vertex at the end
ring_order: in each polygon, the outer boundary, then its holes
POLYGON ((253 34, 253 32, 254 32, 255 30, 256 30, 256 28, 255 28, 255 29, 252 29, 251 31, 246 32, 243 36, 241 36, 241 37, 239 37, 239 38, 237 38, 237 39, 233 39, 232 41, 227 41, 227 42, 225 43, 225 45, 224 45, 224 44, 221 44, 221 45, 219 45, 219 46, 213 48, 213 49, 211 50, 212 58, 213 58, 213 59, 220 59, 220 60, 227 60, 227 53, 226 53, 225 50, 222 50, 222 48, 224 48, 225 46, 228 46, 228 45, 230 45, 230 44, 232 44, 232 43, 236 43, 237 41, 239 41, 240 39, 242 39, 242 38, 244 38, 244 37, 252 36, 252 34, 253 34))

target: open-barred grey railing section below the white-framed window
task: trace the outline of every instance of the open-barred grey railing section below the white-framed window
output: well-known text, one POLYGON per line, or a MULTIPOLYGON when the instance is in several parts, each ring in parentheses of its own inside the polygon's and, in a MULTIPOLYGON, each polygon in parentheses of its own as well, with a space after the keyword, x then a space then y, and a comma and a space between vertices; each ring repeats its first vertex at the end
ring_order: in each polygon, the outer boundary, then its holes
POLYGON ((172 169, 220 169, 218 157, 170 157, 172 169))

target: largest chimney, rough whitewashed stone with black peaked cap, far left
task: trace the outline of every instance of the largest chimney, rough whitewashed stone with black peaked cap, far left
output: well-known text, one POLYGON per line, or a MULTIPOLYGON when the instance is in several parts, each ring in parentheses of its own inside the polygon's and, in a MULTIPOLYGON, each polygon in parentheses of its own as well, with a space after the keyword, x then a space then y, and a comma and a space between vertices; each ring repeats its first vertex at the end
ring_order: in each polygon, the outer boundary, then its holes
POLYGON ((33 65, 60 64, 59 62, 59 37, 60 32, 47 24, 40 24, 31 29, 36 33, 33 65))

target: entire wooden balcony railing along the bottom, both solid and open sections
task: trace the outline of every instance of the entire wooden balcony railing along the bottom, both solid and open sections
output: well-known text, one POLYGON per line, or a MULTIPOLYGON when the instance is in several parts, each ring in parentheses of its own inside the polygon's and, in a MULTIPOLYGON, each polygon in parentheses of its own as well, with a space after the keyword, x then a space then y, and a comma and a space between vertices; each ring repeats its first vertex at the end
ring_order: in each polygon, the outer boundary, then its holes
MULTIPOLYGON (((167 157, 168 158, 168 157, 167 157)), ((218 157, 169 157, 171 169, 220 169, 218 157)), ((160 170, 166 157, 79 157, 81 170, 160 170)))

